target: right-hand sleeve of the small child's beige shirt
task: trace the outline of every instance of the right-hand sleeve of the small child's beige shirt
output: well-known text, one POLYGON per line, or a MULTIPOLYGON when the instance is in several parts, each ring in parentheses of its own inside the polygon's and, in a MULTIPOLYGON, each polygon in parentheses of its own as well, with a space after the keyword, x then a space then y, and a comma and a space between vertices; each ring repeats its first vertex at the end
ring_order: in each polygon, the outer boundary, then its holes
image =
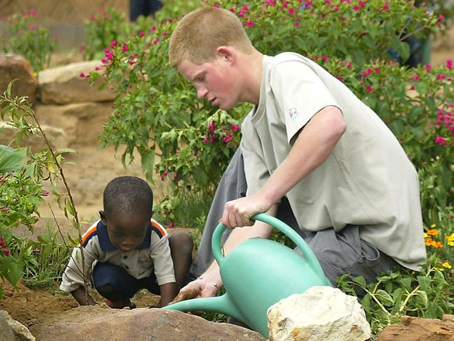
POLYGON ((159 238, 159 235, 154 232, 152 233, 150 256, 153 260, 154 275, 156 275, 158 285, 175 283, 175 272, 173 270, 173 261, 170 255, 167 234, 159 238))

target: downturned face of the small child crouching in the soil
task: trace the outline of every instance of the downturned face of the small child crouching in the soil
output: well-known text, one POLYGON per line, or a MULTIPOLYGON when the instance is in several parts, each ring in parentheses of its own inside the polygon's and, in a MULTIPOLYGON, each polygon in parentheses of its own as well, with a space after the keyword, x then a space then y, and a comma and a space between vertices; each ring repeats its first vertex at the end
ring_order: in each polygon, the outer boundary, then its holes
POLYGON ((109 219, 103 211, 99 211, 99 215, 103 224, 107 226, 110 241, 120 251, 128 252, 136 249, 145 239, 149 225, 149 217, 146 215, 113 215, 109 219))

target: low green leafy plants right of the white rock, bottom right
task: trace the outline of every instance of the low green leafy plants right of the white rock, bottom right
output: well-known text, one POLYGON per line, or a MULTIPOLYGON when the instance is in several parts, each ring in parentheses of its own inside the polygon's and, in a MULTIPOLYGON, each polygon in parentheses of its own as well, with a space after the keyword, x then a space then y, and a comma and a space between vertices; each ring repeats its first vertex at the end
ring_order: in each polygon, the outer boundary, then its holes
POLYGON ((439 259, 432 255, 421 272, 396 268, 369 284, 364 277, 349 279, 347 274, 339 277, 337 284, 345 293, 363 294, 360 303, 376 334, 388 324, 400 321, 403 315, 441 319, 453 311, 453 286, 443 275, 447 269, 438 264, 439 259))

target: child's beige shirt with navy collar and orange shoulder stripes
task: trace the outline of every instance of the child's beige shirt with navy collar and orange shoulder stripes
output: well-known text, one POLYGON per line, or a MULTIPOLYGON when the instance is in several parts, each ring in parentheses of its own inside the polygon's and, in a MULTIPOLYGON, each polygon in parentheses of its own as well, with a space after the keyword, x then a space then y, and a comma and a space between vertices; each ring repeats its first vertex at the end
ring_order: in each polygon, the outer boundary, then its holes
MULTIPOLYGON (((92 267, 96 262, 108 262, 124 268, 129 275, 140 279, 154 271, 158 285, 175 283, 173 261, 170 256, 168 234, 165 228, 151 219, 145 240, 137 248, 122 252, 110 242, 105 225, 98 220, 82 235, 86 279, 91 282, 92 267)), ((75 247, 61 278, 60 290, 70 292, 84 284, 80 248, 75 247)))

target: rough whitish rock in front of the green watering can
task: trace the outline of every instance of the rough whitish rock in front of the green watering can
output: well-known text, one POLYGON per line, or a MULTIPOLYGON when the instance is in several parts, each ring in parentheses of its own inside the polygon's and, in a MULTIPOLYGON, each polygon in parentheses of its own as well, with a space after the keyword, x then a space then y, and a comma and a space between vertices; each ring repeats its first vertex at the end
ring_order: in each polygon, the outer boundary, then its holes
POLYGON ((270 341, 360 341, 371 337, 356 297, 330 286, 312 286, 268 309, 270 341))

